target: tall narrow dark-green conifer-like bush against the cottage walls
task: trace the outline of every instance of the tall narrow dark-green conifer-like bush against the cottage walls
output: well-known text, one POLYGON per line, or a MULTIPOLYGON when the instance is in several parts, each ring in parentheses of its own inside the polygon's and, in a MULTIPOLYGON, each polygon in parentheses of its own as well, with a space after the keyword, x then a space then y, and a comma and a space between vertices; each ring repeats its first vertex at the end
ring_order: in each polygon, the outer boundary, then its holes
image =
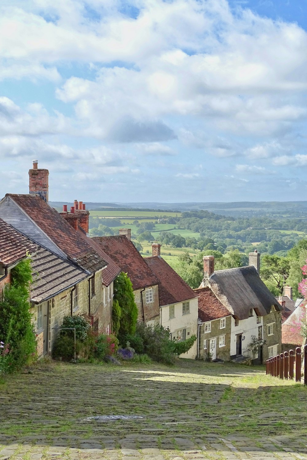
MULTIPOLYGON (((133 286, 127 273, 121 272, 114 281, 114 300, 121 308, 118 338, 121 345, 127 334, 135 334, 138 320, 138 307, 134 301, 133 286)), ((113 300, 113 301, 114 301, 113 300)))

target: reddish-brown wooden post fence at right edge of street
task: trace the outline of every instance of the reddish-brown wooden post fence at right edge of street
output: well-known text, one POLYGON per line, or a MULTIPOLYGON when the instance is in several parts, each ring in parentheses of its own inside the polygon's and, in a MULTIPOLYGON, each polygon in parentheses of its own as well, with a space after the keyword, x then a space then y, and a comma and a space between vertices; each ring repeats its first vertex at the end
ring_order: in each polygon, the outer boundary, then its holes
POLYGON ((266 360, 266 374, 280 379, 294 379, 301 382, 301 358, 304 357, 304 385, 307 385, 307 344, 303 352, 301 347, 296 347, 295 351, 290 350, 280 353, 273 358, 266 360))

